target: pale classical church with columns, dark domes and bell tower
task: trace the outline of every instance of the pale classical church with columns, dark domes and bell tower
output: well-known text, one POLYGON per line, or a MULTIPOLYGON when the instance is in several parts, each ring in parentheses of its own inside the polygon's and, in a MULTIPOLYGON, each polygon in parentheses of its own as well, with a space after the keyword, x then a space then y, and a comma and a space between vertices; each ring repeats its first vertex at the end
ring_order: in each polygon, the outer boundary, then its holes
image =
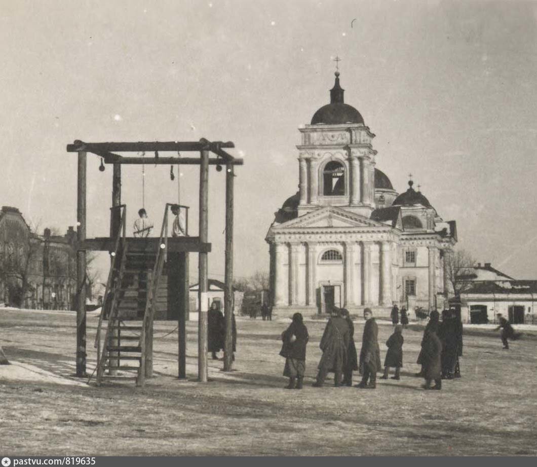
POLYGON ((330 104, 299 128, 299 191, 266 235, 273 311, 441 310, 455 221, 444 222, 412 181, 401 194, 393 188, 376 168, 375 135, 343 94, 336 71, 330 104))

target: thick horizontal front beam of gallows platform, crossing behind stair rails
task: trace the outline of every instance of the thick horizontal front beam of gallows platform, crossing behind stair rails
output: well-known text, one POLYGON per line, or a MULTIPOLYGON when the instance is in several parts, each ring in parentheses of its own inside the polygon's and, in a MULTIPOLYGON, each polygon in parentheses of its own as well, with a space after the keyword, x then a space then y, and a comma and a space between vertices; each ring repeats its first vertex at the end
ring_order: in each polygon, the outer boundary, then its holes
MULTIPOLYGON (((127 237, 129 252, 155 253, 158 249, 158 238, 135 238, 127 237)), ((97 252, 113 252, 115 240, 110 237, 97 237, 86 239, 81 242, 78 249, 97 252)), ((170 237, 168 239, 168 252, 201 252, 210 253, 211 243, 201 243, 199 237, 170 237)))

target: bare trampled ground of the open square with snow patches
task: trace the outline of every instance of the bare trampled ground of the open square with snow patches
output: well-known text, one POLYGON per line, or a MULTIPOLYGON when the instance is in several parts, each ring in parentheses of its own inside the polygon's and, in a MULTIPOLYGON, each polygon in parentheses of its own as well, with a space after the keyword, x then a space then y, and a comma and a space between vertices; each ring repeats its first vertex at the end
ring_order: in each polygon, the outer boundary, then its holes
MULTIPOLYGON (((97 317, 88 318, 88 371, 97 317)), ((75 317, 0 310, 0 450, 4 455, 536 455, 537 341, 502 350, 497 335, 465 336, 462 378, 423 391, 413 375, 423 326, 404 331, 402 379, 378 389, 311 387, 323 322, 308 322, 306 387, 282 389, 285 322, 237 319, 235 370, 210 361, 196 383, 197 324, 188 324, 187 372, 177 375, 173 322, 157 322, 155 373, 134 383, 86 384, 75 370, 75 317)), ((360 348, 362 322, 356 327, 360 348)), ((380 323, 379 342, 391 333, 380 323)), ((358 375, 354 377, 358 383, 358 375)))

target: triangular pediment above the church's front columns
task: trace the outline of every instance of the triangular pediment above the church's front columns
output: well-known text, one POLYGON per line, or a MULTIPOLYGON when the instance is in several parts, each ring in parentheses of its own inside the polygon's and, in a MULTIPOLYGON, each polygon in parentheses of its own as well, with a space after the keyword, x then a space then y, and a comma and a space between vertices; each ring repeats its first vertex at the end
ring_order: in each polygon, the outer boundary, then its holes
POLYGON ((338 207, 321 207, 273 227, 275 231, 302 228, 355 228, 384 227, 380 222, 363 217, 338 207))

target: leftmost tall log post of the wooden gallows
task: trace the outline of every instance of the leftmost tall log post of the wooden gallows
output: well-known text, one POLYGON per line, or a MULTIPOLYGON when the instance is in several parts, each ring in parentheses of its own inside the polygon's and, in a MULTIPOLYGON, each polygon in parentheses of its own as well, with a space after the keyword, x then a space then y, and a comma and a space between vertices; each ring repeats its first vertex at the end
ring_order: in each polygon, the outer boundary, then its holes
MULTIPOLYGON (((78 153, 77 241, 86 239, 86 152, 78 153)), ((76 376, 86 376, 86 251, 77 250, 76 376)))

